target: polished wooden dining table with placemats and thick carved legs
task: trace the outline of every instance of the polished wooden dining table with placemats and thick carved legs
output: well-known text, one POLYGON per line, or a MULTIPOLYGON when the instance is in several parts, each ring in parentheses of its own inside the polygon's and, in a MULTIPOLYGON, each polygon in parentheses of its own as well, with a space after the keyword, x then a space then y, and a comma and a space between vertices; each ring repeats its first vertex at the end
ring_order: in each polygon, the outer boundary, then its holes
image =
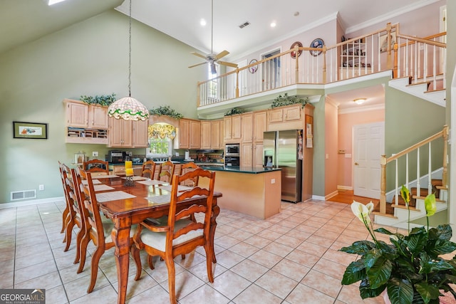
MULTIPOLYGON (((118 276, 118 303, 125 303, 128 283, 128 268, 130 263, 130 229, 147 218, 160 218, 169 212, 170 185, 150 179, 135 177, 133 187, 125 186, 125 177, 105 176, 93 177, 95 194, 100 210, 113 220, 114 228, 111 233, 115 243, 115 263, 118 276), (98 191, 97 191, 98 190, 98 191)), ((209 240, 214 246, 214 234, 217 226, 217 216, 220 209, 217 198, 220 192, 214 192, 212 217, 209 240)), ((206 204, 202 196, 187 199, 177 204, 177 211, 192 204, 206 204)), ((212 251, 214 252, 214 251, 212 251)), ((216 263, 215 253, 212 262, 216 263)))

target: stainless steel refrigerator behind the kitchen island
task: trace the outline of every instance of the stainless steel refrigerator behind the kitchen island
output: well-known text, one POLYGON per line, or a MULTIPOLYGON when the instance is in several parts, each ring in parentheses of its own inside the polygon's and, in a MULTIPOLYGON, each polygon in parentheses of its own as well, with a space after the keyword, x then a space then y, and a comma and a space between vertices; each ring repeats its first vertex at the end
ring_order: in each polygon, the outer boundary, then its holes
POLYGON ((302 130, 264 132, 264 167, 281 168, 281 199, 301 201, 302 130))

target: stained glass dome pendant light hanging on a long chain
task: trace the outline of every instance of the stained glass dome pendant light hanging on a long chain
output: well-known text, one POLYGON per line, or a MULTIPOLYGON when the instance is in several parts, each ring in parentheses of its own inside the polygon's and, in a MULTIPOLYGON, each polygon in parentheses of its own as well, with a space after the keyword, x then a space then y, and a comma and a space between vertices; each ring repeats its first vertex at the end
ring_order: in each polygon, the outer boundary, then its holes
POLYGON ((131 0, 130 0, 130 28, 129 28, 129 50, 128 50, 128 97, 120 98, 108 108, 109 117, 123 120, 146 120, 149 117, 149 110, 138 100, 131 97, 131 0))

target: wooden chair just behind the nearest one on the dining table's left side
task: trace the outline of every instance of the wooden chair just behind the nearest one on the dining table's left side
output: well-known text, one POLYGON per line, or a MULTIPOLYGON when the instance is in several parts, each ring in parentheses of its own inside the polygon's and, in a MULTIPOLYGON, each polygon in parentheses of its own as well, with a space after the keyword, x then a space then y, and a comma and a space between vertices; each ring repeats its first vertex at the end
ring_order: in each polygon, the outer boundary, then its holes
POLYGON ((68 214, 68 221, 66 222, 65 241, 66 247, 64 251, 68 251, 71 244, 71 236, 73 235, 73 227, 76 225, 79 228, 76 236, 76 256, 73 263, 78 263, 80 259, 79 248, 81 246, 81 239, 86 233, 86 221, 84 221, 81 214, 81 200, 78 197, 78 191, 75 185, 74 169, 70 169, 66 164, 61 164, 63 175, 65 176, 65 185, 68 192, 70 211, 68 214))

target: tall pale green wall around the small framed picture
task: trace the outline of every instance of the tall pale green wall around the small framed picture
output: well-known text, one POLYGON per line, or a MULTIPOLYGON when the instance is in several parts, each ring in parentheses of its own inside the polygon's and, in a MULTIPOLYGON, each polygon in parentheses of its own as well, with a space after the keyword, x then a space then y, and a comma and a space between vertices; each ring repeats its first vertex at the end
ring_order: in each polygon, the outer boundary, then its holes
MULTIPOLYGON (((133 21, 132 96, 148 108, 170 105, 196 118, 195 51, 133 21)), ((128 16, 108 11, 0 55, 0 203, 10 192, 37 190, 37 199, 63 196, 57 161, 105 145, 65 144, 64 98, 128 95, 128 16), (12 122, 48 123, 48 140, 13 139, 12 122), (6 148, 6 149, 5 149, 6 148), (45 190, 38 191, 38 184, 45 190)), ((143 152, 141 149, 140 152, 143 152)))

